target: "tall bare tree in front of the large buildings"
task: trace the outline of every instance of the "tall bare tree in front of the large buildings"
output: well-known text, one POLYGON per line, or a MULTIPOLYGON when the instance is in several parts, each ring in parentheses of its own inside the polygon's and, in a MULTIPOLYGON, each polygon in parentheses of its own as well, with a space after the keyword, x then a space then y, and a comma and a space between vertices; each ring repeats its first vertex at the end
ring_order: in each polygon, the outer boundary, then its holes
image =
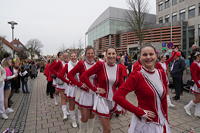
POLYGON ((146 0, 127 0, 129 10, 128 14, 128 23, 132 28, 133 32, 139 40, 139 45, 142 45, 144 36, 144 18, 147 13, 148 3, 146 0))

